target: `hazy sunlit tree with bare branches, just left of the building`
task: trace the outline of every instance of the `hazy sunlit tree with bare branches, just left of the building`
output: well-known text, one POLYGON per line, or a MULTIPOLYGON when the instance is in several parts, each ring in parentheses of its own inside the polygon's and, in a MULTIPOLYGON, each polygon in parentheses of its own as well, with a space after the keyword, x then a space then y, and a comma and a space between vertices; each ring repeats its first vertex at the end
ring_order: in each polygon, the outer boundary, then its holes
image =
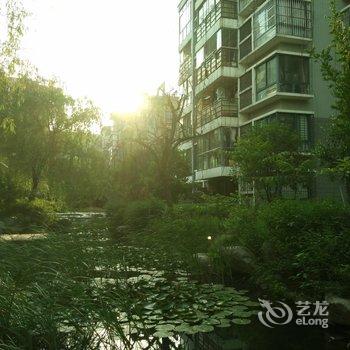
MULTIPOLYGON (((129 125, 132 151, 117 165, 117 181, 131 197, 155 195, 171 204, 182 188, 187 164, 179 145, 191 139, 182 123, 184 99, 163 92, 129 125)), ((130 145, 127 147, 130 148, 130 145)), ((135 199, 135 198, 134 198, 135 199)))

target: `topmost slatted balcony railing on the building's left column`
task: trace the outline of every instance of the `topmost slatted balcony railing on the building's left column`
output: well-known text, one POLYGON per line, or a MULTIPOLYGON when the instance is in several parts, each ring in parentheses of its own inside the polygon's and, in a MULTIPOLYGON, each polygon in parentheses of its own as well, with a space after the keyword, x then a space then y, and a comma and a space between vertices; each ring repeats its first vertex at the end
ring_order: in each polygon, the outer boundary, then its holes
POLYGON ((213 7, 201 23, 198 23, 199 19, 197 18, 196 41, 198 42, 201 40, 205 33, 207 33, 220 18, 237 18, 237 2, 233 0, 221 0, 213 7))

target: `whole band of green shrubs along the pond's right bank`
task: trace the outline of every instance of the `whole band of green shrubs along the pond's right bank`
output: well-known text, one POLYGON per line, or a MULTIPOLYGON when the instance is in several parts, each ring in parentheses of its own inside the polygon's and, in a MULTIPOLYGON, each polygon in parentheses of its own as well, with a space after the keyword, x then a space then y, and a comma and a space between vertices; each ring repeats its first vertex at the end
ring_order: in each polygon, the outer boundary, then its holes
MULTIPOLYGON (((279 200, 257 207, 239 204, 229 197, 216 197, 215 202, 222 203, 222 208, 226 205, 226 210, 217 210, 220 206, 210 201, 178 204, 163 211, 160 217, 148 217, 147 222, 143 221, 143 230, 138 221, 136 225, 128 221, 128 234, 114 237, 167 252, 199 275, 208 276, 209 271, 207 267, 198 270, 195 254, 208 253, 212 259, 211 278, 220 276, 224 278, 221 281, 227 281, 226 275, 231 283, 241 273, 227 276, 232 273, 232 257, 225 254, 225 249, 240 246, 256 258, 256 269, 249 276, 251 287, 262 289, 269 297, 348 295, 350 208, 297 200, 279 200)), ((142 207, 148 204, 144 202, 142 207)))

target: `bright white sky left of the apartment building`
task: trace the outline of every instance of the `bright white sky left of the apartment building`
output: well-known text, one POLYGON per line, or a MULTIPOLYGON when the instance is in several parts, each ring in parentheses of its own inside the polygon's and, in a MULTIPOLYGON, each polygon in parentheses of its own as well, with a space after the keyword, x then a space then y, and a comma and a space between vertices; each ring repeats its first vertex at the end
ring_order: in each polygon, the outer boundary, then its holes
POLYGON ((177 87, 178 0, 23 0, 21 56, 104 113, 132 112, 164 81, 177 87))

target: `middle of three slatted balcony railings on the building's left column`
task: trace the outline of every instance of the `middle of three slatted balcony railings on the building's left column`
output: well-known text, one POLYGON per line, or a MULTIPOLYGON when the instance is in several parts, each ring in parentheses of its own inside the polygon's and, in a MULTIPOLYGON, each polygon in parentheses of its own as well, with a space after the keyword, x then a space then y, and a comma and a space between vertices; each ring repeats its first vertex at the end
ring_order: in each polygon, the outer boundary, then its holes
POLYGON ((197 69, 197 84, 209 77, 220 67, 237 67, 237 49, 222 47, 214 51, 197 69))

